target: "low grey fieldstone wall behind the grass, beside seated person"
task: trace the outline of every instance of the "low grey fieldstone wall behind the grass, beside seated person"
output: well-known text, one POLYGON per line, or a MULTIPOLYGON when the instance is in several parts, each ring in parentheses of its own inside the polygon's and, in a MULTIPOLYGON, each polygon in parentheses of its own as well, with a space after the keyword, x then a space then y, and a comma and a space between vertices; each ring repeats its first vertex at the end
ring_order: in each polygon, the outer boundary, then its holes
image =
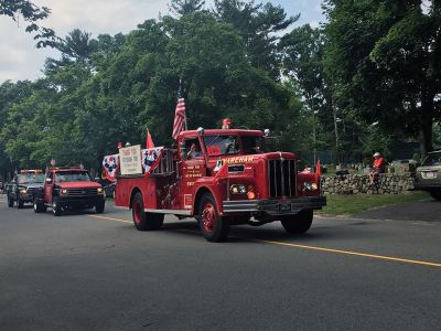
POLYGON ((322 177, 324 194, 398 194, 411 189, 413 189, 413 178, 410 173, 380 174, 374 184, 370 184, 369 177, 364 174, 322 177))

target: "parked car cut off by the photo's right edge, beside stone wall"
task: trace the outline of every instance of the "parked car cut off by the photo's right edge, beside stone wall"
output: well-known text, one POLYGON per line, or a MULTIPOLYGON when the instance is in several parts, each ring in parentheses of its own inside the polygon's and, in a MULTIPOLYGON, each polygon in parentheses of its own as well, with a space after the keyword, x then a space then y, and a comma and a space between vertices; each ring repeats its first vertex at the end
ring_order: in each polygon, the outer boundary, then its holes
POLYGON ((441 150, 428 153, 417 168, 415 188, 428 191, 430 195, 441 201, 441 150))

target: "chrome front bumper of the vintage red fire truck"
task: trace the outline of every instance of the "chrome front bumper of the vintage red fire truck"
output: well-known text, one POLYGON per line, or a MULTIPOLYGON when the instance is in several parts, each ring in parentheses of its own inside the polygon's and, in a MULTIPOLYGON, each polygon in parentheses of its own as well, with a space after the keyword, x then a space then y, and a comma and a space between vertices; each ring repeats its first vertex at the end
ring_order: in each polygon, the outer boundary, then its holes
POLYGON ((287 200, 223 201, 224 213, 265 212, 270 215, 297 214, 303 210, 320 210, 325 196, 302 196, 287 200))

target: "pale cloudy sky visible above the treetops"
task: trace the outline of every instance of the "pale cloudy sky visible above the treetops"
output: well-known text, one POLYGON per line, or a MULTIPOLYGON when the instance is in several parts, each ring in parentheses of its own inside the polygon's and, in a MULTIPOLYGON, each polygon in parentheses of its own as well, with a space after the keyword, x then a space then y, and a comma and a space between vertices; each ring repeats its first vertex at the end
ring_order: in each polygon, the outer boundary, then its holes
MULTIPOLYGON (((318 26, 324 21, 321 0, 267 0, 284 8, 288 15, 301 14, 295 25, 310 23, 318 26)), ((158 19, 169 13, 169 0, 33 0, 36 6, 51 9, 49 19, 41 21, 52 28, 60 36, 74 29, 92 33, 128 33, 137 24, 148 19, 158 19)), ((256 2, 259 2, 258 0, 256 2)), ((0 15, 0 84, 4 81, 34 81, 42 77, 41 72, 46 57, 58 57, 51 49, 36 49, 31 33, 24 31, 25 24, 0 15)))

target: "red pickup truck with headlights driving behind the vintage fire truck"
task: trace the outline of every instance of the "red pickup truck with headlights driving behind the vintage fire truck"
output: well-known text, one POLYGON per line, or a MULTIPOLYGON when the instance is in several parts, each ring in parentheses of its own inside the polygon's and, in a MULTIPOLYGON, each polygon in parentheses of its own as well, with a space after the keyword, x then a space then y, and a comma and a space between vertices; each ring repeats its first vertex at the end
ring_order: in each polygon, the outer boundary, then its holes
POLYGON ((86 169, 52 168, 46 172, 44 186, 35 194, 35 213, 46 212, 52 207, 55 216, 67 210, 95 207, 103 213, 106 196, 103 186, 94 182, 86 169))

